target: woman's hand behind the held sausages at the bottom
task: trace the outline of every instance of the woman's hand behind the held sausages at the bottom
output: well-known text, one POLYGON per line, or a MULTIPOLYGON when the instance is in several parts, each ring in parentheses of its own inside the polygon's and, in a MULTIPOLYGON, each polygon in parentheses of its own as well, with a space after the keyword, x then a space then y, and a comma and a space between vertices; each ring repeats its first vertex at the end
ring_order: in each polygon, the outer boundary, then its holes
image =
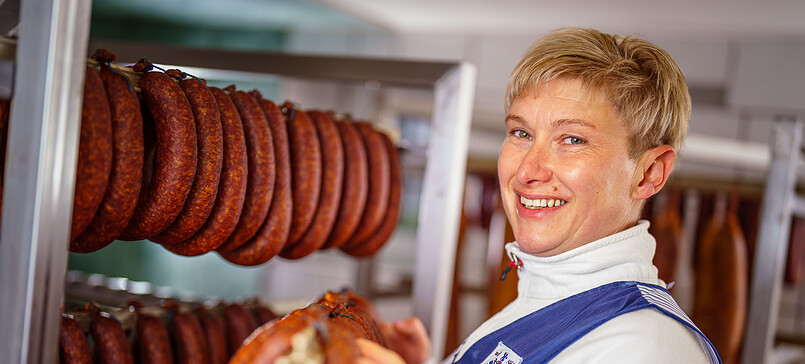
POLYGON ((381 322, 380 330, 391 351, 371 341, 359 340, 363 357, 368 360, 362 363, 421 364, 430 356, 430 339, 418 318, 381 322))

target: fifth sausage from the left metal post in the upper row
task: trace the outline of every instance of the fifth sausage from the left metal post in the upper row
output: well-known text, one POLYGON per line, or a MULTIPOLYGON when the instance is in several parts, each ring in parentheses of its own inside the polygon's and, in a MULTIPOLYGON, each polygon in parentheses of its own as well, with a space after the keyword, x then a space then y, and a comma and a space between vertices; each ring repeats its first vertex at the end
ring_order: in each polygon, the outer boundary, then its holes
POLYGON ((226 241, 238 224, 246 199, 249 173, 246 136, 235 104, 223 90, 210 87, 221 114, 223 131, 223 165, 215 205, 204 225, 189 239, 167 246, 168 250, 212 251, 226 241))

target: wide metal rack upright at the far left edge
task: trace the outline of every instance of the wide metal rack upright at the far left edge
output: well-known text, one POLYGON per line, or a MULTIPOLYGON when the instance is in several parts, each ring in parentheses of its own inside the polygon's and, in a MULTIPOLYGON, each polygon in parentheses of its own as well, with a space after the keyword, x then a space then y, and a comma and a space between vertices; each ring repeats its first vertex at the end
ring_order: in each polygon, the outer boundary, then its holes
POLYGON ((56 362, 91 4, 21 4, 0 240, 4 363, 56 362))

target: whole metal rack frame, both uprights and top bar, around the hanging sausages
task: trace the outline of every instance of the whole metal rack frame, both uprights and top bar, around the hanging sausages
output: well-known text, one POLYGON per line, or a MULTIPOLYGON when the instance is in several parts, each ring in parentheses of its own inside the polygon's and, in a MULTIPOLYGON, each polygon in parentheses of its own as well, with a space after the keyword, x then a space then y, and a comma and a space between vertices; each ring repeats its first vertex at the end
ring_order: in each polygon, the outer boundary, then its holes
POLYGON ((465 62, 411 62, 227 52, 88 40, 90 0, 22 1, 0 240, 0 356, 55 362, 64 299, 88 48, 121 61, 148 54, 209 72, 377 82, 434 91, 417 228, 414 315, 428 328, 431 361, 443 356, 476 69, 465 62))

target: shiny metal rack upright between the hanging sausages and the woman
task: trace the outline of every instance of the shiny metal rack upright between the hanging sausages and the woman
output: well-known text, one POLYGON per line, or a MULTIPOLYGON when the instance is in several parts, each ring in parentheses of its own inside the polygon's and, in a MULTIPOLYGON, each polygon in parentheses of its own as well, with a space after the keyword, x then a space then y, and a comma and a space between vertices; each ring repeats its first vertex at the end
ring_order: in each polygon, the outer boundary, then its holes
POLYGON ((414 315, 431 337, 429 362, 444 357, 476 69, 461 63, 436 84, 422 185, 414 272, 414 315))

